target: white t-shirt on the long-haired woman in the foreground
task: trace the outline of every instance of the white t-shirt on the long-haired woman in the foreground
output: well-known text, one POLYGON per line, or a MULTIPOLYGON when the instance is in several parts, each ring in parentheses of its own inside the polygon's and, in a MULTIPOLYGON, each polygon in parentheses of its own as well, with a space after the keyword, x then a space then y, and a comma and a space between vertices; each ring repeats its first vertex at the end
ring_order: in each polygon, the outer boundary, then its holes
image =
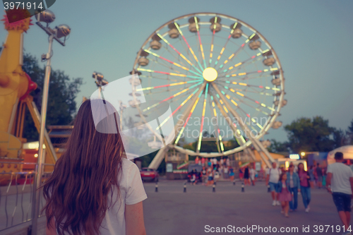
MULTIPOLYGON (((135 163, 126 158, 121 162, 122 173, 119 179, 119 189, 121 200, 116 201, 105 213, 105 217, 100 227, 101 235, 125 235, 125 205, 140 203, 147 198, 145 188, 141 180, 140 171, 135 163)), ((116 189, 113 192, 113 200, 117 198, 116 189)), ((110 203, 108 195, 108 205, 110 203)))

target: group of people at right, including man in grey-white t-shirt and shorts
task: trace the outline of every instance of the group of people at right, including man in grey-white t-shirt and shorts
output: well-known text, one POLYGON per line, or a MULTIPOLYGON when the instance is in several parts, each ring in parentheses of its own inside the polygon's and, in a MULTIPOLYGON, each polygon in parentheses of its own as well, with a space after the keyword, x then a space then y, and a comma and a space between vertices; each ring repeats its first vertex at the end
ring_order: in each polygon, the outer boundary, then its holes
POLYGON ((349 228, 351 200, 353 192, 353 164, 344 164, 342 152, 336 152, 335 163, 328 167, 320 164, 304 169, 304 164, 295 166, 289 164, 286 171, 273 162, 266 171, 266 185, 270 188, 273 206, 281 205, 281 213, 289 217, 289 212, 295 212, 298 207, 298 195, 301 194, 305 212, 310 211, 311 188, 326 188, 333 195, 333 202, 338 215, 345 227, 344 234, 350 234, 349 228))

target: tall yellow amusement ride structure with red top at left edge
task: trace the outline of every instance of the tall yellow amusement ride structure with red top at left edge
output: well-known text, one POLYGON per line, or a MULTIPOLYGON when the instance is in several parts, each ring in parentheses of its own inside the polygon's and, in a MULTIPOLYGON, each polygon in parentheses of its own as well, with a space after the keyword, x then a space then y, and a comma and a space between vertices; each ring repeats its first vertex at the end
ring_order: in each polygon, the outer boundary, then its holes
MULTIPOLYGON (((8 17, 25 18, 28 11, 10 10, 8 17)), ((0 173, 23 171, 25 166, 23 124, 26 107, 30 111, 37 131, 40 131, 40 113, 29 95, 37 88, 30 76, 22 69, 23 66, 23 32, 30 28, 30 18, 9 23, 4 16, 4 26, 8 31, 5 43, 0 52, 0 173)), ((56 152, 47 132, 44 133, 46 149, 45 163, 56 162, 56 152)), ((37 148, 37 147, 35 147, 37 148)), ((32 154, 37 157, 37 154, 32 154)), ((48 168, 48 167, 47 167, 48 168)), ((34 169, 32 165, 32 169, 34 169)), ((49 169, 47 169, 49 170, 49 169)), ((8 183, 11 174, 1 174, 0 184, 8 183)))

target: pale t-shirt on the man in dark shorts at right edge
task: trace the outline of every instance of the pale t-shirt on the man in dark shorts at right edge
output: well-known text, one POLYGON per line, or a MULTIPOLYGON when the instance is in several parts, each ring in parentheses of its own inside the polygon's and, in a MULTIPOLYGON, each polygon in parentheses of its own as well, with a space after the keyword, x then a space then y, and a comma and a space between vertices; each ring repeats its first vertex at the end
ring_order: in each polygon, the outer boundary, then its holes
POLYGON ((353 177, 350 167, 342 162, 335 162, 328 165, 328 173, 332 173, 331 191, 333 193, 352 194, 349 178, 353 177))

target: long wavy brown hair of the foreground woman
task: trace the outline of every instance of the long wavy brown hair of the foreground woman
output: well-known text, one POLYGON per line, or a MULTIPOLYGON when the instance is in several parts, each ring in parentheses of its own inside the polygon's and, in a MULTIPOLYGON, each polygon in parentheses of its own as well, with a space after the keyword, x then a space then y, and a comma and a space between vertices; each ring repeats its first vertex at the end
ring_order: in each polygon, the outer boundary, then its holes
MULTIPOLYGON (((86 100, 81 104, 66 150, 43 186, 47 227, 55 219, 55 229, 60 235, 99 234, 105 212, 112 206, 114 188, 119 195, 118 176, 124 150, 119 128, 116 125, 117 133, 98 132, 91 102, 111 106, 102 100, 86 100), (111 203, 108 203, 109 193, 111 203)), ((107 119, 116 124, 116 116, 114 113, 107 119)))

